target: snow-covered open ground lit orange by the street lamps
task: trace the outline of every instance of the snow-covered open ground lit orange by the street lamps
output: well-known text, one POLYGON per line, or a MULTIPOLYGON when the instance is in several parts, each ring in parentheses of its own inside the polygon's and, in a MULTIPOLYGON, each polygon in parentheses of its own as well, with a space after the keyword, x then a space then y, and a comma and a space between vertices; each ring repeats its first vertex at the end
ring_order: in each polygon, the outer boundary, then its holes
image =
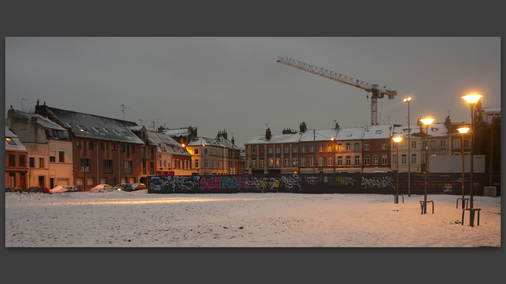
POLYGON ((5 246, 500 247, 500 197, 474 197, 475 227, 458 197, 422 215, 420 195, 6 193, 5 246))

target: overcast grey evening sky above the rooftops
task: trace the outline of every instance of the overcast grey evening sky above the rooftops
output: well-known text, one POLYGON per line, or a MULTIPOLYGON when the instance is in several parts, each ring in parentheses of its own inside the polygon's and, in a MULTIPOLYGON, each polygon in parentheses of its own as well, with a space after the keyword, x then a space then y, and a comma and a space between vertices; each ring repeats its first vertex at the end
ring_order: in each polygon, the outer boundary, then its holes
POLYGON ((469 121, 470 92, 500 106, 500 37, 6 37, 5 115, 39 99, 123 119, 124 104, 124 119, 148 130, 225 129, 241 147, 267 123, 272 134, 370 124, 370 93, 278 57, 396 90, 377 100, 382 125, 407 123, 408 96, 411 123, 469 121))

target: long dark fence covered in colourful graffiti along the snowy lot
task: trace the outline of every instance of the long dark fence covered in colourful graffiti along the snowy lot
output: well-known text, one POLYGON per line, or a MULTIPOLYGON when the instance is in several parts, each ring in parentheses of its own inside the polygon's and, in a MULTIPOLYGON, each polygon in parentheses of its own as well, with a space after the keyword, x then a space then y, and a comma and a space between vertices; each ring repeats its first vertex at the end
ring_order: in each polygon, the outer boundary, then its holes
MULTIPOLYGON (((411 194, 424 194, 425 174, 411 173, 411 194)), ((464 175, 469 195, 469 173, 464 175), (466 182, 467 181, 467 182, 466 182)), ((396 173, 244 174, 148 176, 148 193, 396 194, 396 173)), ((483 195, 488 173, 473 173, 474 195, 483 195)), ((500 196, 500 173, 492 174, 500 196)), ((399 194, 408 193, 408 175, 399 173, 399 194)), ((462 174, 429 173, 427 194, 462 194, 462 174)))

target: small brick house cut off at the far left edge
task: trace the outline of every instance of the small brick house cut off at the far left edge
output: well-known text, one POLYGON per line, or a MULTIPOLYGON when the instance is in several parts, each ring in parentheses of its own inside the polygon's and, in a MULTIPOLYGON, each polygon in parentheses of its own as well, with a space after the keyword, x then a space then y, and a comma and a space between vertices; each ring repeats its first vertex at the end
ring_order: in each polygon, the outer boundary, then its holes
POLYGON ((28 151, 7 125, 5 126, 5 187, 27 188, 28 151))

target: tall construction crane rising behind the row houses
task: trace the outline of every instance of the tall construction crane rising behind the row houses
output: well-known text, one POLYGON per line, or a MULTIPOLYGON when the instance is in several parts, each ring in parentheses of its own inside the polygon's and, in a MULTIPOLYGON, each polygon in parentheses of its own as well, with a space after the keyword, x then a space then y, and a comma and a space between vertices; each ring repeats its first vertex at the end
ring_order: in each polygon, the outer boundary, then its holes
POLYGON ((391 100, 394 98, 394 96, 397 94, 397 91, 394 90, 387 90, 386 86, 385 89, 379 88, 378 85, 369 84, 364 81, 360 81, 339 73, 335 73, 334 71, 327 70, 325 68, 321 67, 315 67, 311 66, 306 63, 302 63, 297 60, 293 60, 291 58, 283 58, 278 57, 277 62, 283 63, 285 65, 295 67, 325 78, 329 78, 341 83, 348 84, 350 86, 354 86, 357 88, 364 89, 366 92, 371 93, 371 125, 378 125, 377 124, 377 99, 383 99, 385 95, 388 96, 388 99, 391 100))

